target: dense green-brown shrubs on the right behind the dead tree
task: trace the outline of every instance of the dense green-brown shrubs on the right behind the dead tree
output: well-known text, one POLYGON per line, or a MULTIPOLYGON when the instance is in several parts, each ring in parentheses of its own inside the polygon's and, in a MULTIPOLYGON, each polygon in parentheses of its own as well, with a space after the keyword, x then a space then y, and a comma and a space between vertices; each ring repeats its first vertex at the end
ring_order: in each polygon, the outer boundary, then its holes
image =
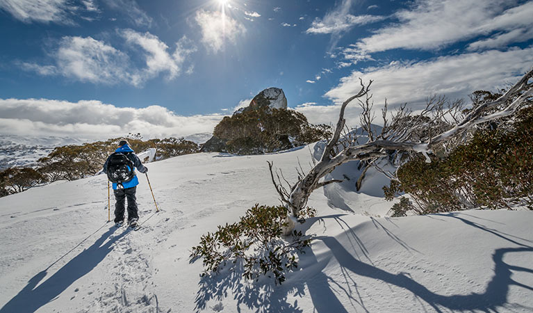
POLYGON ((417 156, 405 163, 397 171, 400 182, 384 187, 386 199, 409 193, 411 208, 419 214, 470 207, 509 209, 512 202, 533 209, 532 155, 533 107, 529 106, 516 115, 511 127, 479 129, 472 141, 448 157, 425 163, 417 156))

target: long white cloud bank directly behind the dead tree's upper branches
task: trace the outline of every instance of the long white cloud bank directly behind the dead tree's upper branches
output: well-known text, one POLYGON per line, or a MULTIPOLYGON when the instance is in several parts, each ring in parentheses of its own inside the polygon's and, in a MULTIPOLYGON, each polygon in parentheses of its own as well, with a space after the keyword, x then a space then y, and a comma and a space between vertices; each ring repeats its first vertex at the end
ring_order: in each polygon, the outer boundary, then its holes
POLYGON ((533 47, 443 56, 418 63, 393 62, 352 72, 325 97, 340 104, 359 90, 361 77, 365 82, 374 80, 371 89, 376 108, 384 103, 385 98, 389 104, 408 102, 419 106, 425 103, 426 97, 434 94, 455 99, 464 98, 479 89, 503 88, 509 81, 514 82, 521 77, 532 64, 533 47))

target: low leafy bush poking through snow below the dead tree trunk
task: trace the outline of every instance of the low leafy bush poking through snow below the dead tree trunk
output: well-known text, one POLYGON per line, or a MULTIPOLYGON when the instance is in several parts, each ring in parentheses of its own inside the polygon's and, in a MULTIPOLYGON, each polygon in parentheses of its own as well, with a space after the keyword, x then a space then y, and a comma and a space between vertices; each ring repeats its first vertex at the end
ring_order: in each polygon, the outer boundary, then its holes
MULTIPOLYGON (((302 210, 304 211, 304 210, 302 210)), ((315 215, 306 209, 301 218, 315 215)), ((272 277, 281 284, 285 274, 297 268, 297 252, 304 252, 311 238, 295 230, 290 240, 281 237, 287 209, 256 204, 238 223, 218 226, 216 232, 204 234, 198 246, 192 248, 190 262, 203 258, 202 276, 218 273, 227 264, 243 264, 243 278, 259 280, 261 275, 272 277)))

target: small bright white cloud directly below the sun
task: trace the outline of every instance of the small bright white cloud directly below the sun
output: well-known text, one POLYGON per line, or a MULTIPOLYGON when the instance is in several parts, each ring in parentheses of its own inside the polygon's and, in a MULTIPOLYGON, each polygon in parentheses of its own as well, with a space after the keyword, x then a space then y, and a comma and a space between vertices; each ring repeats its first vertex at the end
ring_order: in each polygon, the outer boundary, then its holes
POLYGON ((195 20, 202 31, 202 42, 214 53, 222 50, 225 42, 235 43, 238 36, 246 33, 243 24, 217 11, 199 10, 195 20))

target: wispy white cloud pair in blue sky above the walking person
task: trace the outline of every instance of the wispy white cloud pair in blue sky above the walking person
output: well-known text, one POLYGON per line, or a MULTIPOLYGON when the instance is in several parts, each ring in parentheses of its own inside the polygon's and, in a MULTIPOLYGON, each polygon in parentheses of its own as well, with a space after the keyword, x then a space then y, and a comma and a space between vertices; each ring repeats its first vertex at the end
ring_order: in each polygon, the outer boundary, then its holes
POLYGON ((119 33, 126 45, 136 48, 132 51, 139 51, 140 57, 145 58, 145 67, 136 66, 128 54, 92 37, 63 37, 57 50, 51 54, 55 65, 19 65, 24 70, 41 75, 62 75, 90 83, 129 83, 142 86, 145 81, 160 73, 166 72, 167 79, 174 79, 180 74, 188 55, 196 51, 186 37, 176 43, 174 53, 170 54, 167 45, 156 35, 138 33, 131 29, 119 33))

